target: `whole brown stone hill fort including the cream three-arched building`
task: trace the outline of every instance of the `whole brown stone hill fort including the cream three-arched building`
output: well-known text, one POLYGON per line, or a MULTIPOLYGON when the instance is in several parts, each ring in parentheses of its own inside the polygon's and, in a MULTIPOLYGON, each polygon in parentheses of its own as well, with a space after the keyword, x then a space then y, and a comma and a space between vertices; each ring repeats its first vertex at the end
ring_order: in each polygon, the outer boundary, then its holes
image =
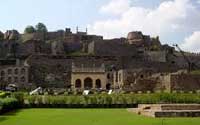
MULTIPOLYGON (((200 65, 199 54, 185 54, 191 62, 200 65)), ((0 32, 0 58, 0 71, 6 71, 3 73, 5 79, 1 79, 4 86, 13 83, 20 88, 31 85, 33 88, 135 92, 200 89, 198 75, 174 75, 188 68, 188 62, 180 52, 162 45, 159 37, 152 38, 140 31, 130 32, 127 37, 104 39, 103 36, 89 35, 87 31, 72 33, 69 28, 26 34, 9 30, 0 32), (9 63, 9 60, 20 60, 21 63, 9 63), (15 70, 20 72, 22 68, 25 68, 25 75, 15 75, 15 70), (7 73, 10 69, 12 80, 7 73), (25 78, 24 83, 20 82, 21 77, 25 78), (190 87, 185 82, 188 79, 190 87)))

